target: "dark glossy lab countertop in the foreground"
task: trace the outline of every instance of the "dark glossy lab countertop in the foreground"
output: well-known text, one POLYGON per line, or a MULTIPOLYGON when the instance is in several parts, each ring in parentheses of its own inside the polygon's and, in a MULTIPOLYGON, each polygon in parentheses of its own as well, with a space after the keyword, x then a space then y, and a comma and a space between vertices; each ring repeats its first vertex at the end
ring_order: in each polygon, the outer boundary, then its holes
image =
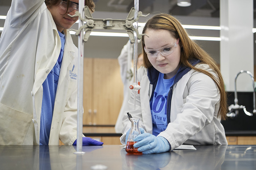
POLYGON ((194 145, 197 150, 128 155, 123 145, 0 146, 0 169, 256 169, 256 145, 194 145))

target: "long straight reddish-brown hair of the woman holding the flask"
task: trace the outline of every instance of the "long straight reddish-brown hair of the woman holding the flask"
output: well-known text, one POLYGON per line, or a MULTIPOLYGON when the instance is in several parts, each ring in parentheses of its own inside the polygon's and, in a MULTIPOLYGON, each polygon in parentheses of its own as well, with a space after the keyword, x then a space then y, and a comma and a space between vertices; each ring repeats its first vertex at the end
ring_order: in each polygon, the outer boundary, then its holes
MULTIPOLYGON (((200 48, 194 41, 192 41, 186 30, 181 26, 181 23, 178 21, 178 19, 174 18, 173 16, 169 14, 157 14, 150 18, 144 28, 142 33, 145 33, 147 30, 157 30, 157 29, 165 29, 168 30, 173 37, 176 39, 180 39, 179 43, 183 46, 181 48, 181 55, 180 55, 180 65, 184 65, 186 67, 190 67, 196 71, 202 72, 209 77, 213 79, 213 81, 216 83, 219 93, 220 93, 220 106, 219 106, 219 112, 218 117, 222 120, 226 119, 227 114, 227 94, 225 91, 224 81, 222 78, 222 75, 219 70, 219 66, 216 64, 216 62, 211 58, 207 52, 205 52, 202 48, 200 48), (211 69, 213 69, 218 77, 215 77, 210 72, 199 69, 194 67, 189 60, 190 59, 199 59, 201 60, 201 63, 208 64, 211 69)), ((149 62, 147 54, 144 50, 145 42, 144 42, 144 36, 142 36, 142 49, 143 49, 143 63, 146 68, 150 68, 152 64, 149 62)))

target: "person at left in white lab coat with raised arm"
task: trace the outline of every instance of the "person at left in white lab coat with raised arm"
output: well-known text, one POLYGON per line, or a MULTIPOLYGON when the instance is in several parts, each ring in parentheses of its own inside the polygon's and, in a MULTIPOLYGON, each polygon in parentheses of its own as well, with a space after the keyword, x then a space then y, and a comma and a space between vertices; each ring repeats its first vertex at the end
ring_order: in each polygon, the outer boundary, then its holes
POLYGON ((78 0, 12 0, 0 39, 0 145, 76 144, 78 49, 67 31, 76 11, 78 0))

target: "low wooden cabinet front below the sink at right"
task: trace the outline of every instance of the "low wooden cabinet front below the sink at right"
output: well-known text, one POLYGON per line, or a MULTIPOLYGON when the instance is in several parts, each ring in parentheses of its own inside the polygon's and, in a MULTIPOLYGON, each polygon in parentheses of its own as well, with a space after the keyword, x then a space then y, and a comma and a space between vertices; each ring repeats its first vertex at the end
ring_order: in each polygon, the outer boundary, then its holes
POLYGON ((227 144, 256 144, 256 136, 227 136, 227 144))

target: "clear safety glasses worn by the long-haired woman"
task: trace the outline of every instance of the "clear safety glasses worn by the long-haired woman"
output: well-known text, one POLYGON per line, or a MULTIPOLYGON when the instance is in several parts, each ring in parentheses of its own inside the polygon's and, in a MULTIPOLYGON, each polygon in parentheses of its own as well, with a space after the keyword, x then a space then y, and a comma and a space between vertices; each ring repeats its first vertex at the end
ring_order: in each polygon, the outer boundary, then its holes
POLYGON ((171 53, 174 52, 174 50, 178 46, 178 43, 179 43, 179 38, 175 43, 173 43, 170 46, 168 45, 167 47, 163 47, 159 49, 146 49, 146 46, 145 46, 144 50, 149 57, 153 57, 153 58, 157 57, 158 53, 161 53, 161 55, 164 55, 164 56, 170 55, 171 53))

